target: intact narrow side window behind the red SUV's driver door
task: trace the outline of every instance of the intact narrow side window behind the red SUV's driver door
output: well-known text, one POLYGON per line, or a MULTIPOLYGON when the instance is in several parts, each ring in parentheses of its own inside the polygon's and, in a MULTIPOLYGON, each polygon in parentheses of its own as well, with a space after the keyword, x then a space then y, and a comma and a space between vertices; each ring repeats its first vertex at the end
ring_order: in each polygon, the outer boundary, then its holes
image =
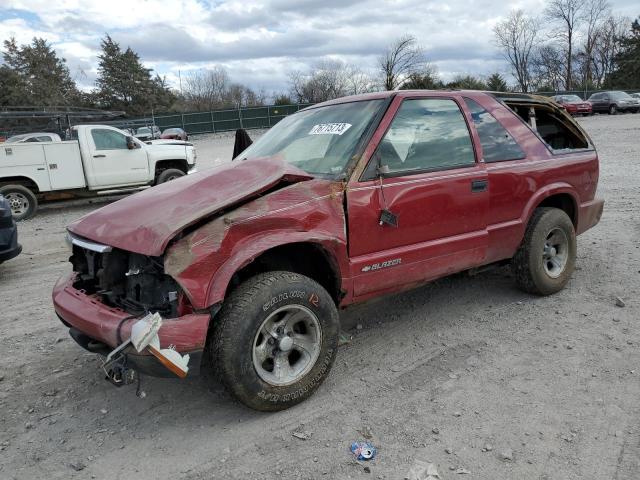
POLYGON ((524 151, 511 134, 479 103, 465 98, 471 118, 478 131, 485 162, 502 162, 525 158, 524 151))

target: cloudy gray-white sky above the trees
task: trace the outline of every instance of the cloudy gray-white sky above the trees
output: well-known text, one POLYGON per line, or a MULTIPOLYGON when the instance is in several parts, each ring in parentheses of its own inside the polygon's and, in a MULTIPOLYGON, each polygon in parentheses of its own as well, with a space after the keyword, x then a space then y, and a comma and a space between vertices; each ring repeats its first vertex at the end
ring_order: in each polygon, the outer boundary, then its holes
MULTIPOLYGON (((637 0, 611 1, 637 17, 637 0)), ((493 26, 511 9, 542 12, 543 0, 3 0, 0 40, 48 39, 78 84, 93 86, 100 38, 110 34, 178 87, 178 71, 223 65, 233 81, 285 91, 287 73, 326 58, 375 73, 376 58, 412 34, 446 80, 456 74, 509 76, 493 26)))

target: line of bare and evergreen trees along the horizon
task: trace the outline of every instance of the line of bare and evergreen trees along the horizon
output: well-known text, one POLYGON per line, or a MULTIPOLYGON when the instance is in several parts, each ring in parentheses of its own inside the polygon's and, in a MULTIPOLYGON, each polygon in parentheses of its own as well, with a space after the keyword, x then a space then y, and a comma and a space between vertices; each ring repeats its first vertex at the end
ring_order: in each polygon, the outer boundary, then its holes
POLYGON ((87 92, 77 87, 65 59, 46 40, 34 38, 18 45, 10 38, 3 44, 0 107, 79 106, 143 116, 259 106, 268 100, 317 103, 394 89, 530 92, 640 86, 639 20, 614 16, 606 0, 550 0, 539 17, 514 10, 493 33, 515 85, 508 85, 501 72, 461 74, 445 82, 417 39, 406 35, 380 55, 375 71, 323 60, 305 71, 290 72, 288 90, 270 96, 231 81, 221 66, 187 72, 177 91, 145 67, 135 51, 109 35, 101 41, 95 87, 87 92))

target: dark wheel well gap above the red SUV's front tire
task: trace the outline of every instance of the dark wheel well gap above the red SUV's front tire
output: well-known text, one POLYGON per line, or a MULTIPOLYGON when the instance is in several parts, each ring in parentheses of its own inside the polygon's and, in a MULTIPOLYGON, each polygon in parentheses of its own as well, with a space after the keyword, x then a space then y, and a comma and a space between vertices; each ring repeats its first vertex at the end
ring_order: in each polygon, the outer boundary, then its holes
POLYGON ((322 246, 314 243, 290 243, 261 253, 233 275, 225 298, 248 278, 275 270, 295 272, 315 280, 329 292, 336 305, 342 299, 339 269, 335 259, 322 246))

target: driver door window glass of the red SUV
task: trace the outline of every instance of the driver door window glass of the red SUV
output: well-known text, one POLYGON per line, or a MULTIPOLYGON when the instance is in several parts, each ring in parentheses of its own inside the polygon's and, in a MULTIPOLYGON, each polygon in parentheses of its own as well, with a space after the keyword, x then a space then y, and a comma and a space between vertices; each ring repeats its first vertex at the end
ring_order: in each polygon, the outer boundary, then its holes
POLYGON ((475 164, 467 123, 458 105, 449 99, 402 102, 377 154, 390 173, 475 164))

